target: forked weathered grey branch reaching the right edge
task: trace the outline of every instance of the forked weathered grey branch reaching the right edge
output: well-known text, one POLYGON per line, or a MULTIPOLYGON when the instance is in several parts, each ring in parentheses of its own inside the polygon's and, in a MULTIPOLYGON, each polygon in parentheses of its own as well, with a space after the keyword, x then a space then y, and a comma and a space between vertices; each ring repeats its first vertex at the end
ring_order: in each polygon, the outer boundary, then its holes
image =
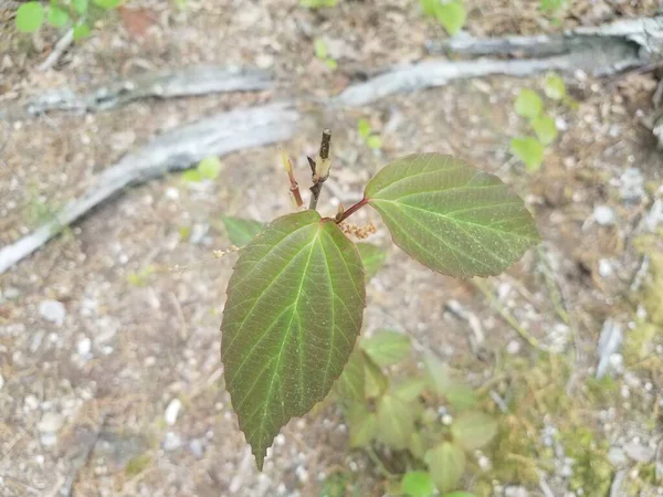
POLYGON ((651 63, 663 53, 663 18, 621 21, 579 28, 557 36, 452 39, 429 47, 432 52, 469 55, 523 55, 533 59, 425 61, 398 67, 346 88, 335 98, 341 106, 360 106, 396 93, 443 86, 454 80, 502 74, 530 76, 546 71, 585 71, 607 76, 651 63))

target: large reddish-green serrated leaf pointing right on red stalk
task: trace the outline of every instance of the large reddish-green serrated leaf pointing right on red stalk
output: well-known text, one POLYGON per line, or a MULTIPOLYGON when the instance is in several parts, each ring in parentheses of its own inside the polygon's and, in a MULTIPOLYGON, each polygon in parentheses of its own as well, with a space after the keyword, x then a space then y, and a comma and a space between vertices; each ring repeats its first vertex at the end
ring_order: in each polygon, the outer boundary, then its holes
POLYGON ((397 159, 365 197, 398 246, 450 276, 499 274, 539 240, 523 201, 499 178, 450 156, 397 159))

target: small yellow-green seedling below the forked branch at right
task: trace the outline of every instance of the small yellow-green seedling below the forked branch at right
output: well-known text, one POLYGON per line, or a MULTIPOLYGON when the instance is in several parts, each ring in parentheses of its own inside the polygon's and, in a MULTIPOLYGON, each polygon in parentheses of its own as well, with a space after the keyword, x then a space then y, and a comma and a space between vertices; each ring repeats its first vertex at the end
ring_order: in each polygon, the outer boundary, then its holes
MULTIPOLYGON (((569 101, 564 80, 556 74, 548 74, 544 92, 552 101, 569 101)), ((514 110, 528 120, 529 127, 536 136, 513 138, 511 150, 525 163, 528 171, 536 172, 544 162, 545 148, 557 139, 558 130, 555 118, 545 112, 540 95, 529 88, 520 91, 514 102, 514 110)))

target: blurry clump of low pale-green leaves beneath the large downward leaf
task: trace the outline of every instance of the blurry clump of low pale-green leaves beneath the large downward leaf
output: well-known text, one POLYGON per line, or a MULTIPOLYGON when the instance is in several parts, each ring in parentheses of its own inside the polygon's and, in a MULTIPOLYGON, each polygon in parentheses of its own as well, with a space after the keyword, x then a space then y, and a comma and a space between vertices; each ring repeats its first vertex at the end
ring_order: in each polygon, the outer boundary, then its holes
POLYGON ((333 392, 350 445, 367 451, 389 477, 399 475, 393 493, 453 495, 444 493, 457 489, 466 455, 491 442, 497 423, 432 355, 424 357, 424 372, 398 380, 387 374, 409 356, 410 339, 400 332, 381 330, 361 339, 333 392))

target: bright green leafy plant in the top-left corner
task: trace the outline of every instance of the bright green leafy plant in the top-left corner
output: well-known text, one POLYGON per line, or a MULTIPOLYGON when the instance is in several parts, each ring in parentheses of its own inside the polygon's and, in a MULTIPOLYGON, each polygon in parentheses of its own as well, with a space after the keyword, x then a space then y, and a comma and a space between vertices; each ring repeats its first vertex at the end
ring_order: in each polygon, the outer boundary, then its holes
MULTIPOLYGON (((99 9, 109 10, 119 7, 124 0, 92 0, 99 9)), ((39 30, 44 20, 53 28, 73 27, 74 40, 90 35, 88 0, 51 0, 48 7, 36 1, 21 4, 17 10, 15 24, 19 31, 32 33, 39 30)))

